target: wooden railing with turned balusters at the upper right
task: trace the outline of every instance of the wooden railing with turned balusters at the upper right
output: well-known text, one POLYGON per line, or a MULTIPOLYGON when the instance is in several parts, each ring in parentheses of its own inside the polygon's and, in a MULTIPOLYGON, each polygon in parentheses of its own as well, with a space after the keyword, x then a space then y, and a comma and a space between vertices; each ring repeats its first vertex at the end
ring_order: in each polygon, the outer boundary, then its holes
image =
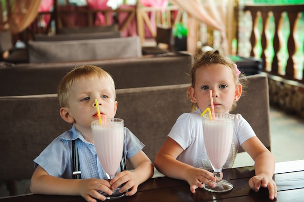
POLYGON ((304 82, 304 4, 245 6, 253 29, 250 55, 271 75, 304 82))

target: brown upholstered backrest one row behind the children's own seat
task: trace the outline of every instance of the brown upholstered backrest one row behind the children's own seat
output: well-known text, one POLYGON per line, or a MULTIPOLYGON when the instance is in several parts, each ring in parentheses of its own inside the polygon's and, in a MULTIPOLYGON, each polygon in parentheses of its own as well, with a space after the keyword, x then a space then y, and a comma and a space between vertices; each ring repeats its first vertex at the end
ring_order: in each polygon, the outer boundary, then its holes
POLYGON ((0 96, 57 93, 61 79, 74 67, 95 65, 110 73, 117 89, 185 84, 193 56, 187 52, 162 56, 88 62, 19 64, 0 67, 0 96))

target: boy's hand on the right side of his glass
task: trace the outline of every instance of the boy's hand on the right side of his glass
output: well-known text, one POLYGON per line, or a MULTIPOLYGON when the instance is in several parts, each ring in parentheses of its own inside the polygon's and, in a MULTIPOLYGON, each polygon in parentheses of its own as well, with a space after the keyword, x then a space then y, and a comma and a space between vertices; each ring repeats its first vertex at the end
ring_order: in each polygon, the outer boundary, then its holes
POLYGON ((123 193, 126 192, 126 196, 132 196, 136 193, 137 187, 139 185, 138 181, 138 176, 134 172, 130 172, 128 170, 119 172, 111 181, 111 189, 116 189, 120 185, 123 185, 120 189, 119 192, 123 193))

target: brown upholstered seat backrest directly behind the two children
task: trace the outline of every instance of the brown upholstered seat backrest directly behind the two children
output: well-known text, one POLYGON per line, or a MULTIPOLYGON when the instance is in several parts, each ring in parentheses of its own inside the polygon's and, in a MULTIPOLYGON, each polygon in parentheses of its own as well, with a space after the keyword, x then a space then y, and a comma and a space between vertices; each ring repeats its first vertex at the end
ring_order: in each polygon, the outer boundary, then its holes
MULTIPOLYGON (((240 113, 270 148, 267 77, 249 76, 246 96, 238 101, 240 113)), ((154 161, 176 119, 189 112, 189 84, 118 89, 117 118, 146 146, 143 151, 154 161)), ((59 116, 56 94, 0 97, 0 180, 30 179, 34 158, 52 139, 71 128, 59 116), (5 166, 3 166, 5 165, 5 166)), ((240 151, 241 152, 241 151, 240 151)), ((132 168, 128 164, 129 168, 132 168)))

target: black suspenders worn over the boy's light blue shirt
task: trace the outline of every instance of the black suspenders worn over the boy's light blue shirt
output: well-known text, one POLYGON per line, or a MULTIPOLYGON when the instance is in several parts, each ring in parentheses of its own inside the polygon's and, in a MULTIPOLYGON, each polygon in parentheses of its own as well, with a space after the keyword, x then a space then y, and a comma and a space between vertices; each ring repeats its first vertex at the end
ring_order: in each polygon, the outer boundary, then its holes
MULTIPOLYGON (((78 149, 76 140, 72 140, 72 158, 73 158, 73 179, 81 179, 81 171, 80 171, 80 164, 79 164, 79 156, 78 156, 78 149)), ((127 170, 124 155, 121 156, 120 161, 120 170, 127 170)))

